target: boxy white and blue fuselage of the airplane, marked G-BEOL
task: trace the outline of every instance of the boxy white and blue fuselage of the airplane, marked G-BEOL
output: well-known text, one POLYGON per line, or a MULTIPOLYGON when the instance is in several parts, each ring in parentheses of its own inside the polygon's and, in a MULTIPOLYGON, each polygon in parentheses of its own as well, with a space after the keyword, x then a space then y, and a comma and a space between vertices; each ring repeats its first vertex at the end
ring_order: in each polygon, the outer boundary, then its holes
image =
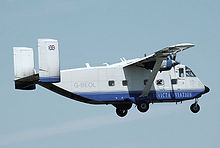
POLYGON ((178 64, 170 70, 158 72, 150 92, 141 93, 150 77, 151 70, 137 66, 124 67, 120 63, 61 71, 61 82, 54 83, 68 92, 97 102, 117 102, 126 99, 133 103, 178 102, 200 97, 205 86, 185 65, 178 64))

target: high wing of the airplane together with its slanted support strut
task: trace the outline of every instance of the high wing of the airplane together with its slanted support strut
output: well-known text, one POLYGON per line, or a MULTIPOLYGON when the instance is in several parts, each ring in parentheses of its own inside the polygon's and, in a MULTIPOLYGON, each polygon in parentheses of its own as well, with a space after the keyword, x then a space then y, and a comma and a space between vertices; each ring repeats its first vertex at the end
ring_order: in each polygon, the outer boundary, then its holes
POLYGON ((124 68, 130 67, 130 66, 146 67, 147 63, 150 63, 150 62, 154 63, 153 70, 151 72, 151 76, 150 76, 149 80, 147 81, 146 86, 145 86, 140 97, 144 97, 144 96, 148 95, 150 88, 154 82, 154 79, 155 79, 158 71, 160 70, 162 62, 164 60, 166 60, 168 56, 176 55, 176 53, 183 51, 183 50, 186 50, 190 47, 194 47, 194 46, 195 45, 191 44, 191 43, 183 43, 183 44, 177 44, 174 46, 169 46, 169 47, 163 48, 163 49, 155 52, 154 54, 152 54, 150 56, 132 61, 130 63, 127 63, 127 65, 125 65, 124 68))

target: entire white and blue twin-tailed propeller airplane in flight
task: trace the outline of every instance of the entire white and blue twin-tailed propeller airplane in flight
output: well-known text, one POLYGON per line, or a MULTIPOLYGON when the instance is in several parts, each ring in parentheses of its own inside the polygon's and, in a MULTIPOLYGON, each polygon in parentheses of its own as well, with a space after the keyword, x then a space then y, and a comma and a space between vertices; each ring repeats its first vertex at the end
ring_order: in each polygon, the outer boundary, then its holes
POLYGON ((36 73, 33 48, 13 47, 15 89, 34 90, 36 84, 67 98, 89 103, 113 105, 119 117, 127 115, 133 104, 147 112, 149 104, 195 100, 190 106, 198 113, 198 99, 208 93, 193 71, 176 61, 177 53, 194 47, 182 43, 163 48, 149 56, 103 66, 60 70, 58 41, 38 39, 36 73))

